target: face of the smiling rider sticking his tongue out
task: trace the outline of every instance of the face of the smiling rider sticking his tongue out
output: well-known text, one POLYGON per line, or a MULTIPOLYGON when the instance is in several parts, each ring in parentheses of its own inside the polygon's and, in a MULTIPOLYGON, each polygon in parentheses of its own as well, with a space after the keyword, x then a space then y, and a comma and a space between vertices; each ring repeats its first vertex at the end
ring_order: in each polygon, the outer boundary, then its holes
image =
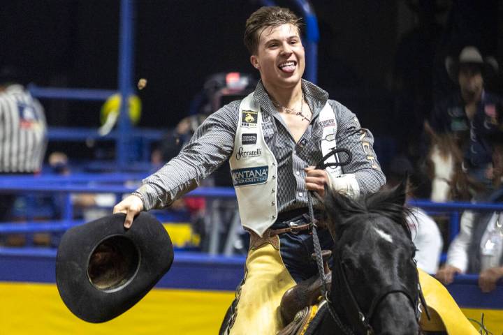
POLYGON ((250 61, 260 71, 266 86, 294 87, 305 68, 304 47, 297 27, 292 24, 265 27, 250 61))

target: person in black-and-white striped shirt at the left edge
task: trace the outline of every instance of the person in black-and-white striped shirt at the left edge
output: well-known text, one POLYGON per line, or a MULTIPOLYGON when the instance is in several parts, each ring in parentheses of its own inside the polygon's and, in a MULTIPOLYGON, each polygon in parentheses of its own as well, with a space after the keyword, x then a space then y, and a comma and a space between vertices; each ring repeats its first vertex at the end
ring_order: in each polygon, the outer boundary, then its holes
MULTIPOLYGON (((0 174, 39 172, 47 147, 43 107, 20 82, 14 68, 0 69, 0 174)), ((10 220, 14 200, 0 194, 0 222, 10 220)))

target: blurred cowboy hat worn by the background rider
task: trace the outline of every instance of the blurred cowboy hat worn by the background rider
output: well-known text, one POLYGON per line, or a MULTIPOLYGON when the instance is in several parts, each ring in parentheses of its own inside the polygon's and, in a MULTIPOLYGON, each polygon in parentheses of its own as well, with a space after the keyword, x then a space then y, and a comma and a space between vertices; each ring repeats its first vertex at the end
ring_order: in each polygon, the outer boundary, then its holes
POLYGON ((453 57, 450 56, 446 58, 446 70, 453 82, 458 82, 459 69, 462 64, 474 64, 476 66, 480 66, 481 73, 484 77, 493 76, 498 71, 497 60, 494 57, 482 57, 479 49, 472 45, 463 47, 458 59, 453 59, 453 57))

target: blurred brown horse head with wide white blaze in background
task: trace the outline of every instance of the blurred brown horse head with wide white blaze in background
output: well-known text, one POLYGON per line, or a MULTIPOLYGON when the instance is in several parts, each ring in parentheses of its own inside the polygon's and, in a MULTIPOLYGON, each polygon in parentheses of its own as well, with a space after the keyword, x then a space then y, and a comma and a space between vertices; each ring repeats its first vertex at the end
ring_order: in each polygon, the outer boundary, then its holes
POLYGON ((472 198, 472 191, 480 191, 481 186, 468 177, 463 168, 463 155, 458 139, 451 133, 436 133, 428 122, 425 122, 424 128, 430 138, 425 164, 432 179, 431 200, 469 200, 472 198))

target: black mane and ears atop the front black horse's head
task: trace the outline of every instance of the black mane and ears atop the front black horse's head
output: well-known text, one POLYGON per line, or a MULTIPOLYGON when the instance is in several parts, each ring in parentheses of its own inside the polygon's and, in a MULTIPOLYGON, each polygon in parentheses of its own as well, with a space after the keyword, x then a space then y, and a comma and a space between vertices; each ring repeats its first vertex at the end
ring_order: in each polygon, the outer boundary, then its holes
MULTIPOLYGON (((410 209, 404 206, 405 183, 392 188, 391 190, 381 190, 370 195, 363 195, 357 199, 351 199, 347 195, 337 191, 328 191, 325 197, 325 207, 328 216, 334 225, 335 234, 340 236, 342 230, 347 226, 350 218, 356 216, 375 214, 384 216, 400 225, 411 239, 411 230, 407 223, 407 216, 410 209)), ((334 234, 334 235, 335 235, 334 234)))

